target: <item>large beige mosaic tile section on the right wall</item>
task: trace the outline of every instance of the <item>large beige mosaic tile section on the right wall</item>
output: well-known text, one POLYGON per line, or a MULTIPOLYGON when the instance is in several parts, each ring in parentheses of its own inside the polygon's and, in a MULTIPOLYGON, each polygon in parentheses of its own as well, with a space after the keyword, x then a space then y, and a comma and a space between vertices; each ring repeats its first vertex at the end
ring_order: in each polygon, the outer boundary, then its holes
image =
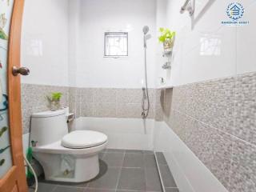
POLYGON ((256 190, 256 73, 164 90, 163 118, 230 192, 256 190))

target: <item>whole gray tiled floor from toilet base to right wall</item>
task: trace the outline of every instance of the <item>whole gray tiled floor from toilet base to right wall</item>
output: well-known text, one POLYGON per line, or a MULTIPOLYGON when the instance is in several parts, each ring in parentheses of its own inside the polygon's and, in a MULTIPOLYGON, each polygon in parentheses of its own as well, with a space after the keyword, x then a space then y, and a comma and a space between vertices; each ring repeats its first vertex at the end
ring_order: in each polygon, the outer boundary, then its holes
POLYGON ((162 192, 160 175, 166 192, 178 192, 162 153, 155 156, 149 150, 107 149, 99 154, 99 159, 100 173, 91 181, 63 183, 39 180, 38 192, 162 192))

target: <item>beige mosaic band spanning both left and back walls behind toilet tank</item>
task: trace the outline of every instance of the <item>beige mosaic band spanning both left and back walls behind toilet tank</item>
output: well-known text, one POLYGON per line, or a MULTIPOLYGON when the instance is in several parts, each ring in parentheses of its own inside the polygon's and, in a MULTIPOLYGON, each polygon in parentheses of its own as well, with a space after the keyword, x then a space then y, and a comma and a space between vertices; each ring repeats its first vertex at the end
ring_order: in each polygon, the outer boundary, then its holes
MULTIPOLYGON (((46 94, 62 92, 62 106, 79 117, 142 118, 141 89, 77 88, 22 84, 23 134, 30 132, 30 115, 49 110, 46 94)), ((162 121, 161 90, 150 89, 150 114, 148 118, 162 121)))

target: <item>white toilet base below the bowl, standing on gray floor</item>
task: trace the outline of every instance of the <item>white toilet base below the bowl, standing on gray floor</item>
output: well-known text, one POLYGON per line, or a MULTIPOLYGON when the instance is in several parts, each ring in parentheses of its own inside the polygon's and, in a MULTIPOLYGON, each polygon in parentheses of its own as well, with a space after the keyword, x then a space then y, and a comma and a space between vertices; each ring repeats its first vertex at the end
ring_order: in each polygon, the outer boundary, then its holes
POLYGON ((86 182, 99 173, 98 153, 46 154, 34 152, 41 163, 46 180, 56 182, 86 182))

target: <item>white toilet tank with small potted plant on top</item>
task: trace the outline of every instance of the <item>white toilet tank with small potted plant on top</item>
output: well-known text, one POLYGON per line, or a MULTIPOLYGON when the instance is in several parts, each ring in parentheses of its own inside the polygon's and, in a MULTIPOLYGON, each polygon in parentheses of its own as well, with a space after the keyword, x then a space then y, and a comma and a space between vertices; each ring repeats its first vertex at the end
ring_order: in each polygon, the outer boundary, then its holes
POLYGON ((45 146, 58 142, 68 134, 66 114, 64 110, 44 111, 32 114, 30 144, 45 146))

